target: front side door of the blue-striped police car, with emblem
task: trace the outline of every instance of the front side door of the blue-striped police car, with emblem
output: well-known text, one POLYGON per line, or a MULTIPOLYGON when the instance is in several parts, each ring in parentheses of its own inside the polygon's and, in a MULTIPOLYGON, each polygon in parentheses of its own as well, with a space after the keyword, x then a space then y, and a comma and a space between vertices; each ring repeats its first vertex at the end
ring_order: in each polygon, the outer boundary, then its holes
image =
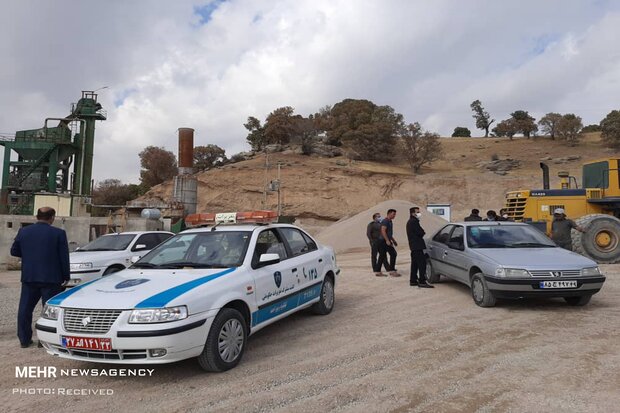
POLYGON ((266 229, 258 234, 252 268, 256 283, 256 305, 258 311, 252 315, 252 326, 269 321, 297 306, 291 295, 295 294, 296 277, 291 271, 286 247, 274 229, 266 229), (261 264, 262 254, 278 254, 280 262, 261 264))

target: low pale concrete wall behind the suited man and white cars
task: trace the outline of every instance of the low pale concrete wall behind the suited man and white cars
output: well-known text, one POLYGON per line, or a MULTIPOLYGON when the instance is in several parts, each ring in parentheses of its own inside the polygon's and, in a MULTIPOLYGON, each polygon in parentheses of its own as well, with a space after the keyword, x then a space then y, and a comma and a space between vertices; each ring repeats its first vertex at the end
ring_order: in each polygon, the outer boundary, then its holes
MULTIPOLYGON (((19 259, 11 257, 11 245, 22 224, 35 222, 37 219, 34 216, 0 215, 0 271, 19 266, 19 259)), ((107 217, 56 217, 54 221, 55 227, 62 228, 67 232, 69 250, 75 250, 96 238, 96 231, 92 226, 99 226, 101 230, 99 235, 101 235, 105 233, 107 224, 107 217)), ((125 231, 158 231, 163 229, 163 224, 162 220, 128 218, 125 231)))

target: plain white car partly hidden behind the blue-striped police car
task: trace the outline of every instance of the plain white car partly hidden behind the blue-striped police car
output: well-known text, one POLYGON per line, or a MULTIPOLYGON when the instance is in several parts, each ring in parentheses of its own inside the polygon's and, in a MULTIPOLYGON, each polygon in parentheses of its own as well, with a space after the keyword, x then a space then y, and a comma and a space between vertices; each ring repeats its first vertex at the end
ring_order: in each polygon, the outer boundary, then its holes
POLYGON ((102 235, 69 254, 71 279, 67 287, 95 280, 129 267, 131 259, 143 256, 174 236, 167 231, 133 231, 102 235))

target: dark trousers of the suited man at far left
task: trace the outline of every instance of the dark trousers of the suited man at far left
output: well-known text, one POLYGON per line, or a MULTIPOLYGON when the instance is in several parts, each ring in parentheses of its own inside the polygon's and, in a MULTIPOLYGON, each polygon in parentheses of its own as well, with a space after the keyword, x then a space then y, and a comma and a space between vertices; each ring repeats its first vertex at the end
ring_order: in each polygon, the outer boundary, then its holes
POLYGON ((60 284, 22 283, 22 293, 17 311, 17 337, 22 344, 32 340, 32 312, 39 300, 45 304, 47 300, 62 291, 60 284))

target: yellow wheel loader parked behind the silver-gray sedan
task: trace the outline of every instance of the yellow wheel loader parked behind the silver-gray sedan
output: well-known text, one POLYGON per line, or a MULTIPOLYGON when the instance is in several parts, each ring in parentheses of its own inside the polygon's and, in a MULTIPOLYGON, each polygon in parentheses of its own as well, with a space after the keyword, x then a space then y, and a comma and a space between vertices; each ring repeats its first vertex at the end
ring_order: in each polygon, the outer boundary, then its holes
POLYGON ((541 163, 543 189, 506 194, 508 215, 550 234, 553 211, 563 208, 568 218, 585 229, 572 231, 573 251, 601 264, 620 263, 620 159, 603 159, 583 165, 582 183, 560 172, 559 189, 549 188, 549 167, 541 163))

